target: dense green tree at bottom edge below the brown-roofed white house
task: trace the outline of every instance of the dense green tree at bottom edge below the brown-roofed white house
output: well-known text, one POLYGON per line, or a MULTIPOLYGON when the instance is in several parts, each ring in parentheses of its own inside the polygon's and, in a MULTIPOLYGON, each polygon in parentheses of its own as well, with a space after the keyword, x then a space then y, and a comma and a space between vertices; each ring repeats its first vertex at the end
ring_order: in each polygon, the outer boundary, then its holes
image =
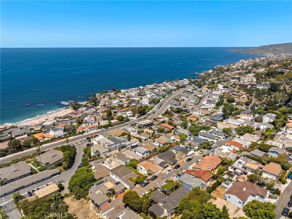
POLYGON ((276 217, 276 213, 273 211, 276 209, 276 205, 272 203, 263 203, 257 200, 252 200, 243 206, 245 215, 251 219, 272 219, 276 217))

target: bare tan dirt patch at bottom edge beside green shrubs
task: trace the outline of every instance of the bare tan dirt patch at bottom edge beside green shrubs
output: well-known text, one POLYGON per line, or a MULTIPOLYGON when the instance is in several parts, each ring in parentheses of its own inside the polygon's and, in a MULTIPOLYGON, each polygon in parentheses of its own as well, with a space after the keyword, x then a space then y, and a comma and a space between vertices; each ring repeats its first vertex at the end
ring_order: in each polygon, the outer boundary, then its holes
POLYGON ((90 205, 91 201, 87 201, 85 199, 81 200, 72 200, 72 197, 67 197, 64 199, 64 201, 69 206, 68 212, 71 214, 75 214, 77 218, 79 219, 86 219, 86 218, 96 218, 98 219, 98 216, 96 216, 91 210, 90 205))

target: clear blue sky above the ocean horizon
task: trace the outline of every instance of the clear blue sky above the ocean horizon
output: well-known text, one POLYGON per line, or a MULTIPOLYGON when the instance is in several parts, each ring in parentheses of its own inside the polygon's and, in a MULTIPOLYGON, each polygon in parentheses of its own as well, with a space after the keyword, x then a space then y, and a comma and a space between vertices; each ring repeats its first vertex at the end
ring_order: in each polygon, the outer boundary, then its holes
POLYGON ((1 47, 291 42, 291 1, 1 1, 1 47))

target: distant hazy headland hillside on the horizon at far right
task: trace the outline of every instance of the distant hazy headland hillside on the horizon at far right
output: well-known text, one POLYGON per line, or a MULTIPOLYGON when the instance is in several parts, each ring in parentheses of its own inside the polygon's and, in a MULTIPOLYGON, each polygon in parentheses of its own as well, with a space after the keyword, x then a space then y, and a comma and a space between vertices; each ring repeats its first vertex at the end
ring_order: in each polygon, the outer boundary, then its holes
POLYGON ((249 49, 227 49, 230 52, 249 53, 254 55, 286 55, 292 56, 292 43, 272 44, 249 49))

